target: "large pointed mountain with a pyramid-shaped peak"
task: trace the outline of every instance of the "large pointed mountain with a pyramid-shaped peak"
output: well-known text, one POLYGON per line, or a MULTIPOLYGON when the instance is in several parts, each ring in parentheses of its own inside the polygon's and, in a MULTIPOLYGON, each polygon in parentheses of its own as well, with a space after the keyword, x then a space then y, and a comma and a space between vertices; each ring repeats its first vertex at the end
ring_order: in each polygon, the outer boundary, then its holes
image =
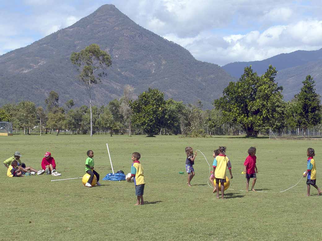
POLYGON ((88 104, 87 92, 70 63, 72 52, 97 43, 112 57, 107 78, 94 85, 94 105, 107 104, 123 94, 126 84, 138 95, 158 88, 166 98, 184 103, 200 99, 204 107, 222 95, 232 77, 220 66, 196 60, 188 50, 148 31, 114 5, 103 5, 75 24, 0 56, 0 105, 31 100, 44 105, 54 90, 61 104, 74 99, 88 104))

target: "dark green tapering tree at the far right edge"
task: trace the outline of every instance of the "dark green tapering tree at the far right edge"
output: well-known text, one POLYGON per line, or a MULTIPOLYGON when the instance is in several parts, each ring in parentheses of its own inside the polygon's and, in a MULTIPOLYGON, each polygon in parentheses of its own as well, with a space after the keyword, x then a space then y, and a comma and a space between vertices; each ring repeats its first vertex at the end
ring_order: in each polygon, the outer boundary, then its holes
POLYGON ((313 78, 308 75, 302 83, 301 91, 295 95, 295 116, 298 126, 306 131, 308 127, 321 123, 321 105, 313 78))

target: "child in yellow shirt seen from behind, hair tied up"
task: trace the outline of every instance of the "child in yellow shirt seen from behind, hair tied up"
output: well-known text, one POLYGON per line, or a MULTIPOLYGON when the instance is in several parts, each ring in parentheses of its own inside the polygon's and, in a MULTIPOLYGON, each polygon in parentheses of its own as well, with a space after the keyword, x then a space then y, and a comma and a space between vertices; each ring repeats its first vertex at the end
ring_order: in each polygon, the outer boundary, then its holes
POLYGON ((224 193, 224 183, 226 182, 226 167, 228 167, 230 173, 230 179, 232 179, 232 165, 228 156, 225 155, 226 147, 219 147, 219 155, 215 157, 213 160, 213 173, 215 174, 216 180, 216 190, 217 190, 217 198, 219 198, 219 183, 221 183, 221 192, 222 199, 224 193))

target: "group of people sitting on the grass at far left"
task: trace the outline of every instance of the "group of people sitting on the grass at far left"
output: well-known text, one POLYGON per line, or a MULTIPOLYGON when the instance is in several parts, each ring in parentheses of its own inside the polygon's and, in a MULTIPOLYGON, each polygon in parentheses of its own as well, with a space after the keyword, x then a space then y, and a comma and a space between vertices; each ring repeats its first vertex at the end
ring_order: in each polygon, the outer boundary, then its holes
POLYGON ((50 152, 46 152, 41 162, 42 170, 38 171, 30 166, 26 166, 21 160, 22 155, 16 151, 14 156, 6 159, 3 163, 8 168, 8 177, 23 177, 26 173, 30 175, 52 174, 53 176, 60 176, 61 174, 56 172, 56 163, 50 152))

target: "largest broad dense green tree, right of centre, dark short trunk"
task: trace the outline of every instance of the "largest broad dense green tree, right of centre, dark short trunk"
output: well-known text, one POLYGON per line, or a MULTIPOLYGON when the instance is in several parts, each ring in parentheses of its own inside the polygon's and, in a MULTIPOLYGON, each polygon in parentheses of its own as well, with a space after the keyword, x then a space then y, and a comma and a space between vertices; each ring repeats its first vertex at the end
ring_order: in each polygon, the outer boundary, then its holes
POLYGON ((271 65, 262 76, 253 72, 251 66, 245 67, 240 79, 230 82, 223 90, 223 97, 213 102, 222 110, 222 120, 240 124, 247 137, 257 137, 260 130, 279 128, 285 103, 283 87, 274 80, 276 74, 271 65))

